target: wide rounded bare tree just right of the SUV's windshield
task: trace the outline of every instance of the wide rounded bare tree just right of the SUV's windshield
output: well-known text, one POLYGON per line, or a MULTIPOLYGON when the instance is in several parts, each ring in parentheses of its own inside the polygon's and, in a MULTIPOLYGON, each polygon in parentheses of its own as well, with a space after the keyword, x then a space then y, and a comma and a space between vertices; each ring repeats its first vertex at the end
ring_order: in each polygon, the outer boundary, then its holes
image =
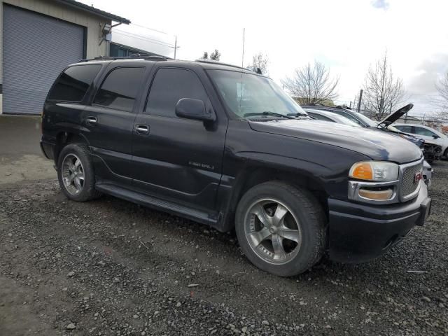
POLYGON ((302 105, 323 104, 337 98, 336 87, 339 77, 331 78, 330 69, 323 63, 314 61, 300 69, 281 83, 302 105))

